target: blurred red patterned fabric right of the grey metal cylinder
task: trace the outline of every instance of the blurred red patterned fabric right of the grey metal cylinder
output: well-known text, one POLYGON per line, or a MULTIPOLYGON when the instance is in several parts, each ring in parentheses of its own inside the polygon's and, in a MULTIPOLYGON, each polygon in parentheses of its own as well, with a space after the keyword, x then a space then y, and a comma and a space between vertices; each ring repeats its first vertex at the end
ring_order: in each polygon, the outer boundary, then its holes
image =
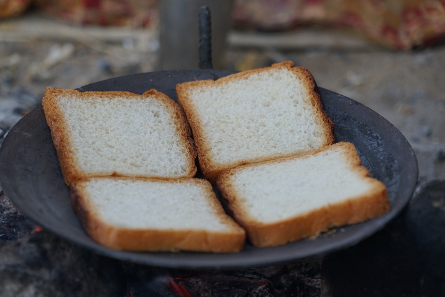
POLYGON ((430 45, 445 37, 443 0, 236 0, 241 28, 285 30, 299 24, 356 28, 394 49, 430 45))

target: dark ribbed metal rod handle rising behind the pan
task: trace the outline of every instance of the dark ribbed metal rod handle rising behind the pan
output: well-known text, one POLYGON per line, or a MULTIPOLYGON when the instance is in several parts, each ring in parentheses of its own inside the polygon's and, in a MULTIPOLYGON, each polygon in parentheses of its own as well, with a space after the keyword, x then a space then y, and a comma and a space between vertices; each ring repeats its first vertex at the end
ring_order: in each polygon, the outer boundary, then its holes
POLYGON ((208 6, 199 10, 199 69, 213 69, 212 21, 208 6))

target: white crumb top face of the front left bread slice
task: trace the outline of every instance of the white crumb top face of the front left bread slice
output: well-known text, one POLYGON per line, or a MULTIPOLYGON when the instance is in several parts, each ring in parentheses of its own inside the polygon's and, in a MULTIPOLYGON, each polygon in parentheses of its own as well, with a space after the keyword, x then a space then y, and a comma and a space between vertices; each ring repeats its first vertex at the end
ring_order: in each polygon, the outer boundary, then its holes
POLYGON ((231 232, 236 226, 227 223, 216 197, 209 198, 206 186, 194 179, 93 178, 78 186, 88 212, 115 228, 231 232))

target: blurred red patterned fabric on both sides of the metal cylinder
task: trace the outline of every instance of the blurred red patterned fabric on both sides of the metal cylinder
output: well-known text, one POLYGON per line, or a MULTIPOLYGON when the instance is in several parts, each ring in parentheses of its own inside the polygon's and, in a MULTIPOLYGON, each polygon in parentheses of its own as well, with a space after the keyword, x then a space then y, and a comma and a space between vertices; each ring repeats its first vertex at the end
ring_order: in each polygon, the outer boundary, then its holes
MULTIPOLYGON (((0 18, 24 11, 31 0, 0 0, 0 18)), ((158 0, 33 0, 50 15, 75 24, 150 26, 158 0)), ((445 39, 445 0, 235 0, 238 28, 288 30, 324 24, 359 30, 393 49, 445 39)))

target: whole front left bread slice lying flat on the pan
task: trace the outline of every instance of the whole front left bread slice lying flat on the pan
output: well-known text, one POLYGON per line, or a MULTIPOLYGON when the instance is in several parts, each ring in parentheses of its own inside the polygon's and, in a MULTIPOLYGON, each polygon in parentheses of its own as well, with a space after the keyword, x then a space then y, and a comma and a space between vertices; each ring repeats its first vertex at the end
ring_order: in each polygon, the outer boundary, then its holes
POLYGON ((71 188, 87 234, 127 251, 239 252, 246 234, 204 179, 98 177, 71 188))

